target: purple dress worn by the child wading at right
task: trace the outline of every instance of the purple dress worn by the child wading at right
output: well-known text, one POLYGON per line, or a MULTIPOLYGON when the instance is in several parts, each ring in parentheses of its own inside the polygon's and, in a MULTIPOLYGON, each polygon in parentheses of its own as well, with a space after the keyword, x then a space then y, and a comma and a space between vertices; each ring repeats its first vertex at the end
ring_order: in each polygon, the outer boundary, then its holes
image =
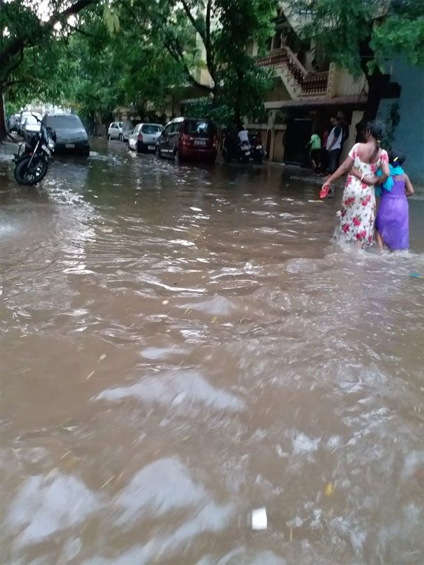
POLYGON ((402 177, 393 177, 393 187, 390 192, 383 190, 375 228, 392 251, 408 249, 409 206, 405 195, 405 181, 402 177))

